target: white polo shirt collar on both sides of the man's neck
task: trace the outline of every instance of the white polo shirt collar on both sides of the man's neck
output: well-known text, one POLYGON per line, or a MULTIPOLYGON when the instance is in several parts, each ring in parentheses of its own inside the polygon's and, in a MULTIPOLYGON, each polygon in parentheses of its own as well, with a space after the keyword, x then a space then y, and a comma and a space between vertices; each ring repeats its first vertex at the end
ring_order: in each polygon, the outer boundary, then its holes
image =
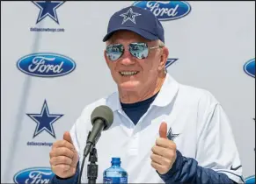
MULTIPOLYGON (((166 74, 165 81, 152 105, 164 107, 172 103, 173 98, 179 91, 179 83, 170 74, 166 74)), ((113 111, 121 110, 121 103, 118 92, 114 92, 106 98, 106 105, 113 111)))

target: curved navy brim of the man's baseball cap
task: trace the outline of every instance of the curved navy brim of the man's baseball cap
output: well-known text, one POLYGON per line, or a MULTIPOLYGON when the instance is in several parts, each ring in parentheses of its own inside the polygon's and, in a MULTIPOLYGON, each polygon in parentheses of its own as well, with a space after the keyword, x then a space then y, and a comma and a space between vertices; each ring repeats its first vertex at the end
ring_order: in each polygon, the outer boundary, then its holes
POLYGON ((118 29, 113 30, 112 32, 108 32, 106 34, 106 36, 103 38, 103 41, 105 42, 107 39, 110 39, 110 37, 113 35, 113 32, 117 32, 117 31, 121 31, 121 30, 135 32, 135 33, 139 34, 140 36, 142 36, 144 39, 149 39, 149 40, 159 39, 156 35, 154 35, 150 32, 146 32, 142 29, 138 29, 135 27, 120 27, 118 29))

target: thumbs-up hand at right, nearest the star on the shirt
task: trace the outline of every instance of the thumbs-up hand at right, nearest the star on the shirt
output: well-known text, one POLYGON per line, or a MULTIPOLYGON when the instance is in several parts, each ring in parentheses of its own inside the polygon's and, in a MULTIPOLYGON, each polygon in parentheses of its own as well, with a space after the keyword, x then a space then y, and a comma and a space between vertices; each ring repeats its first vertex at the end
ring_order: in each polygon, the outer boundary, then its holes
POLYGON ((167 124, 162 123, 159 128, 160 138, 157 138, 156 145, 151 149, 151 166, 158 173, 167 173, 176 160, 176 145, 167 138, 167 124))

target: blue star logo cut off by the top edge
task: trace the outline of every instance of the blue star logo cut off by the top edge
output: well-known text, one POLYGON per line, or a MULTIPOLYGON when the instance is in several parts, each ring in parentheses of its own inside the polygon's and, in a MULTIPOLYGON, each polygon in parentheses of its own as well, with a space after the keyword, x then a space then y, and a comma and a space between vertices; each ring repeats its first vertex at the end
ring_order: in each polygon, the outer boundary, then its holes
POLYGON ((56 9, 59 8, 62 4, 64 4, 64 2, 33 1, 33 4, 40 8, 40 13, 37 18, 36 24, 38 24, 42 19, 50 17, 59 25, 56 9))

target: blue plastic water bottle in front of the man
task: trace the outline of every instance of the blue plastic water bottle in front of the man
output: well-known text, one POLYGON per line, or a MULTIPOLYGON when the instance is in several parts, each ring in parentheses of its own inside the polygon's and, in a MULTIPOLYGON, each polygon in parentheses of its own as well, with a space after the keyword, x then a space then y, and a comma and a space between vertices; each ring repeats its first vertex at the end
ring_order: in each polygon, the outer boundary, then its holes
POLYGON ((121 168, 121 159, 112 158, 111 164, 103 173, 103 183, 128 183, 128 173, 121 168))

